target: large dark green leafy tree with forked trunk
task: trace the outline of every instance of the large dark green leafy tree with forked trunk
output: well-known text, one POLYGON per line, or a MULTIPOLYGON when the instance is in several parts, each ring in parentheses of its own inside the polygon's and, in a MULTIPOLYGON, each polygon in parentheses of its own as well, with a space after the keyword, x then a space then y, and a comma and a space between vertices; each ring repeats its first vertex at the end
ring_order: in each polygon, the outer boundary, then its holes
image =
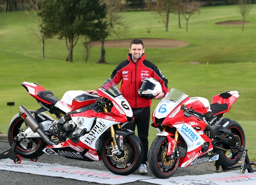
POLYGON ((99 39, 98 32, 106 29, 102 23, 105 9, 100 0, 43 0, 39 14, 43 33, 50 38, 64 38, 68 49, 66 61, 73 62, 73 47, 79 36, 87 35, 94 41, 99 39))

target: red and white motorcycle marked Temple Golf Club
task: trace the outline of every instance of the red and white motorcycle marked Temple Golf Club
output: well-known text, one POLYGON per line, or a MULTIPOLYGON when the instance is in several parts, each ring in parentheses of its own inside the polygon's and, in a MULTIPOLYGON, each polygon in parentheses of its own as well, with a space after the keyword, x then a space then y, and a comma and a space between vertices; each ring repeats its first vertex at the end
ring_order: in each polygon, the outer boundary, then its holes
POLYGON ((114 82, 105 81, 97 95, 67 91, 62 99, 39 84, 21 85, 41 108, 27 110, 21 105, 9 124, 9 144, 16 144, 19 163, 21 157, 36 161, 46 153, 89 162, 102 160, 118 175, 138 169, 143 154, 140 139, 121 128, 133 121, 133 111, 114 82))

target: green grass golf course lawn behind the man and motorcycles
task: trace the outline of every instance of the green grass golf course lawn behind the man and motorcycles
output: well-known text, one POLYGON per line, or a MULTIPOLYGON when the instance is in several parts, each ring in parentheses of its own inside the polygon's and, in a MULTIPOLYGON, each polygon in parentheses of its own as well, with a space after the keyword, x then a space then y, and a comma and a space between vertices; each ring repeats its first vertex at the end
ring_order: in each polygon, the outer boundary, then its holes
MULTIPOLYGON (((190 42, 175 49, 148 48, 146 58, 155 63, 169 80, 168 87, 190 96, 202 96, 211 102, 212 96, 226 90, 237 90, 240 97, 225 117, 238 121, 246 134, 249 157, 256 158, 254 148, 256 102, 256 5, 242 26, 220 26, 221 21, 242 20, 237 6, 201 7, 193 15, 188 32, 182 18, 171 14, 169 31, 164 31, 162 18, 149 11, 121 12, 129 29, 121 39, 168 38, 190 42), (150 33, 147 28, 150 27, 150 33), (192 65, 191 62, 198 62, 192 65), (209 65, 206 63, 209 62, 209 65)), ((73 63, 66 62, 64 40, 46 40, 45 59, 41 59, 40 41, 28 27, 35 27, 24 12, 0 13, 0 131, 7 133, 8 124, 18 112, 19 105, 38 109, 40 105, 28 95, 21 82, 36 82, 61 98, 68 90, 96 89, 110 77, 116 65, 126 59, 128 47, 106 48, 108 64, 96 64, 100 48, 93 47, 88 63, 84 61, 83 39, 73 49, 73 63), (14 102, 12 107, 7 102, 14 102)), ((109 37, 109 39, 113 39, 109 37)), ((153 101, 152 111, 158 101, 153 101)), ((149 144, 156 130, 150 128, 149 144)))

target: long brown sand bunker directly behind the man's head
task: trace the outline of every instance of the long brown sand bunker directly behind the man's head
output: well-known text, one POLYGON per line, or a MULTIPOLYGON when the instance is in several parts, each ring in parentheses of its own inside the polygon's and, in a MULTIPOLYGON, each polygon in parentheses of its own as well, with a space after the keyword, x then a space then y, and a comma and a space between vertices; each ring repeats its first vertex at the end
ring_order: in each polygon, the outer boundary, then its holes
MULTIPOLYGON (((132 39, 124 40, 106 40, 104 42, 104 47, 130 47, 130 42, 132 39)), ((189 42, 183 40, 172 40, 172 39, 142 39, 144 47, 153 47, 153 48, 176 48, 184 47, 189 45, 189 42)), ((100 47, 100 42, 92 42, 91 46, 100 47)))

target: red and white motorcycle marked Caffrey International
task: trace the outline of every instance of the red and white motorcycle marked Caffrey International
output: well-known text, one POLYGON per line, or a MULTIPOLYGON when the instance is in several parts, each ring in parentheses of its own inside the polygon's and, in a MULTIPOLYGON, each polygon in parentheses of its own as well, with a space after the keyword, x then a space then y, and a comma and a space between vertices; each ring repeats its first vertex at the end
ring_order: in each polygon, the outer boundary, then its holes
POLYGON ((239 97, 237 91, 188 96, 171 89, 152 113, 159 133, 149 150, 149 166, 157 178, 171 177, 178 167, 215 161, 214 170, 234 166, 242 158, 245 136, 236 121, 223 118, 239 97))

